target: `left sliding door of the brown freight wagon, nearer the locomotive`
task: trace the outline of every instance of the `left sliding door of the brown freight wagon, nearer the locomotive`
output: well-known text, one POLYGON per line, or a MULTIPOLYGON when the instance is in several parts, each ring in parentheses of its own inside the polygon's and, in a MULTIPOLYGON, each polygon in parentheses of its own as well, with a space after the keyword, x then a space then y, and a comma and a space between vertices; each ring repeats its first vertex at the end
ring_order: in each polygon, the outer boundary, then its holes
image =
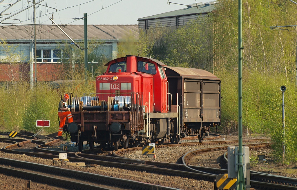
POLYGON ((202 122, 201 80, 184 79, 184 122, 202 122))

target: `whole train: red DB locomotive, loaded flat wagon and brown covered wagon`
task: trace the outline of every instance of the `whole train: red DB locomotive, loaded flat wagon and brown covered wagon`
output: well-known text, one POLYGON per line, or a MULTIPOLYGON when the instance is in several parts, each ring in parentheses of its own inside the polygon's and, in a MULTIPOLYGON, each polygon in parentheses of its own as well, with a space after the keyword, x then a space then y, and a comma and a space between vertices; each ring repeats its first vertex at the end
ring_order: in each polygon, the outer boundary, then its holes
POLYGON ((221 123, 220 79, 208 71, 168 67, 127 55, 108 62, 96 78, 96 93, 69 99, 73 123, 64 130, 72 142, 90 148, 127 148, 185 135, 208 135, 221 123))

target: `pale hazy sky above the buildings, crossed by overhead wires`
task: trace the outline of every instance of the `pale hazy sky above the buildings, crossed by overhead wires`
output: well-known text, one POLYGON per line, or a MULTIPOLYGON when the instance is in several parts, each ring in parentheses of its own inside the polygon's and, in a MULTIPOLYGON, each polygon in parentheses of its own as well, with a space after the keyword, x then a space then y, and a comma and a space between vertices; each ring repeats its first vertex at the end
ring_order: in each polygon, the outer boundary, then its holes
MULTIPOLYGON (((33 7, 27 9, 32 1, 21 0, 14 5, 7 5, 16 0, 3 0, 0 4, 0 25, 33 23, 33 7), (10 19, 5 19, 7 17, 10 19)), ((135 25, 139 18, 186 8, 178 4, 205 3, 210 0, 169 0, 170 4, 168 0, 35 0, 39 1, 42 2, 36 6, 36 23, 51 24, 49 17, 53 17, 58 24, 83 25, 83 20, 72 18, 82 18, 86 12, 87 24, 135 25)))

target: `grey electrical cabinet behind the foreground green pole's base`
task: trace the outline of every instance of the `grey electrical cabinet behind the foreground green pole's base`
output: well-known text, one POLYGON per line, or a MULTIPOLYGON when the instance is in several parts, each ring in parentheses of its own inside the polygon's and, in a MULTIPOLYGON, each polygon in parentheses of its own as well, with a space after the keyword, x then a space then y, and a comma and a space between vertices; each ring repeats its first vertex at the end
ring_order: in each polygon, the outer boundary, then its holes
MULTIPOLYGON (((243 172, 244 178, 247 178, 247 163, 249 163, 249 147, 243 146, 243 172)), ((238 176, 238 146, 228 147, 228 178, 237 178, 238 176)))

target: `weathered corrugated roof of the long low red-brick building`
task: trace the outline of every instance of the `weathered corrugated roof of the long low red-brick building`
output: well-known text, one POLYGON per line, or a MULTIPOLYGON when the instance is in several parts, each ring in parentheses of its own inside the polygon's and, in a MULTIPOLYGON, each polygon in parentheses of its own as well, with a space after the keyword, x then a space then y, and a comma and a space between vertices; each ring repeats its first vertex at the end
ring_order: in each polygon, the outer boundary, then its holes
MULTIPOLYGON (((73 40, 84 37, 83 25, 66 25, 62 30, 73 40)), ((114 40, 122 39, 126 34, 132 33, 138 38, 138 25, 88 25, 88 39, 114 40)), ((67 36, 56 26, 36 26, 37 40, 68 40, 67 36)), ((33 40, 32 25, 3 26, 0 29, 1 39, 30 39, 33 40)))

